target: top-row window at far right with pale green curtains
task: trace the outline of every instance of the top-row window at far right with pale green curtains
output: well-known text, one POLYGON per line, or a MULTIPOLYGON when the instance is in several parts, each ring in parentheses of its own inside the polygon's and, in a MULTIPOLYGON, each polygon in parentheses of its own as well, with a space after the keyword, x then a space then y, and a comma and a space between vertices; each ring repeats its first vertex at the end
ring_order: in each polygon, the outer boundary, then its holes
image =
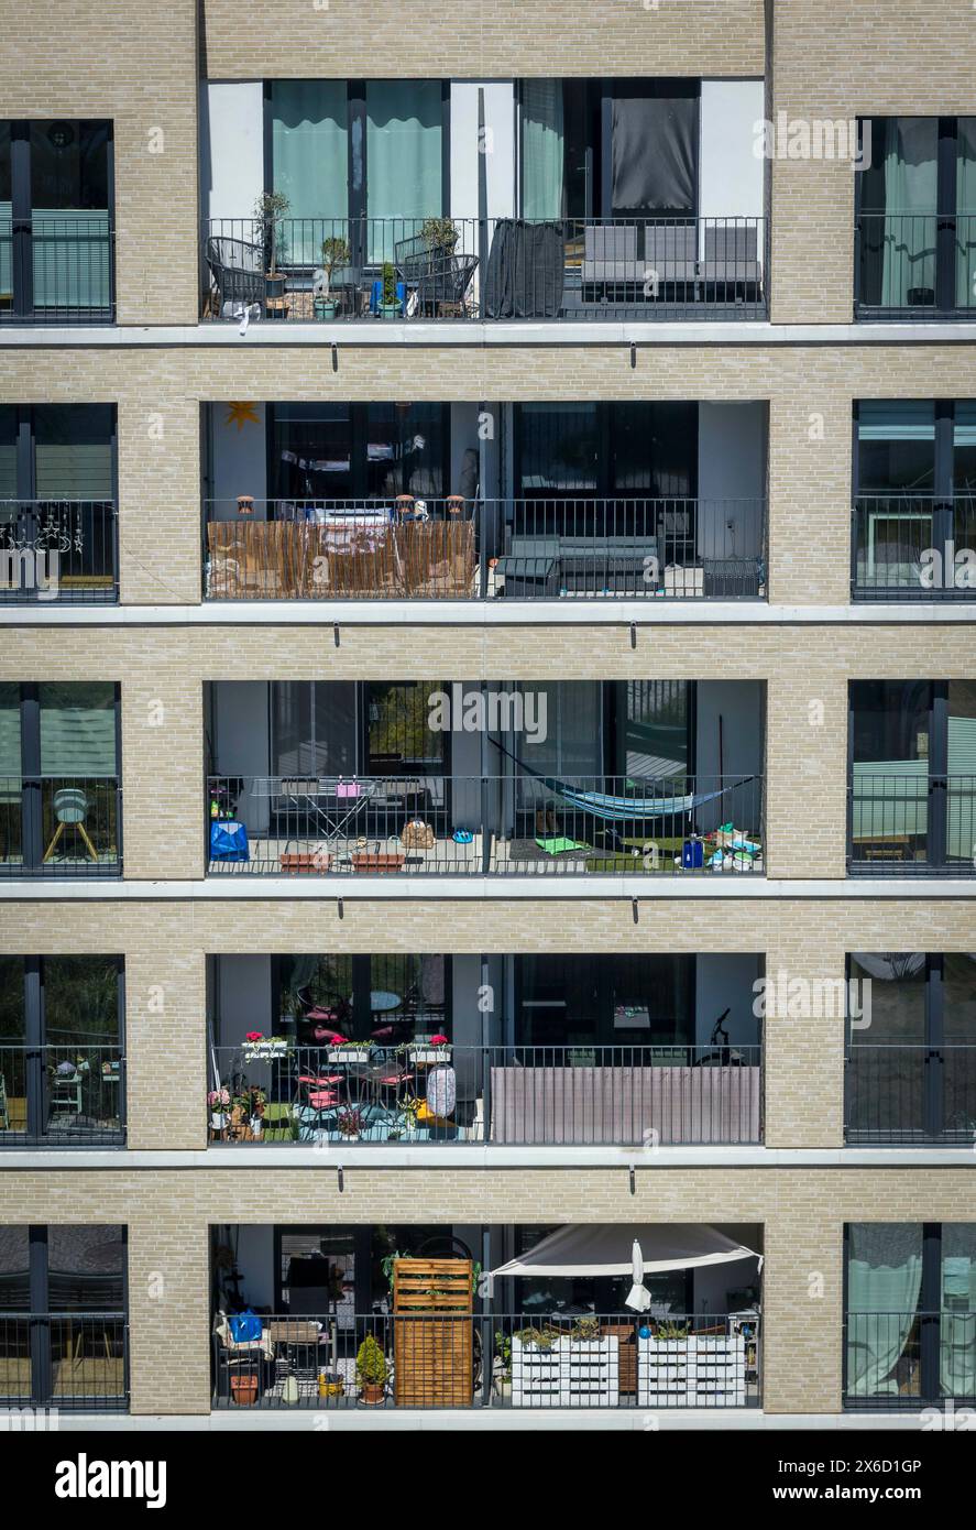
POLYGON ((860 303, 976 308, 976 118, 866 118, 861 153, 860 303))

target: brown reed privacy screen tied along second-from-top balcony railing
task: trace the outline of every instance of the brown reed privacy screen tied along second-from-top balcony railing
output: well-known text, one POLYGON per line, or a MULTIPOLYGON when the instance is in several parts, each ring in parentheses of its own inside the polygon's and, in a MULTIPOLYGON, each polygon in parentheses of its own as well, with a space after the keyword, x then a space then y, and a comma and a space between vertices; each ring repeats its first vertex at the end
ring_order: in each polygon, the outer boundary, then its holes
POLYGON ((474 522, 408 522, 338 534, 295 520, 211 520, 210 600, 474 597, 474 522))

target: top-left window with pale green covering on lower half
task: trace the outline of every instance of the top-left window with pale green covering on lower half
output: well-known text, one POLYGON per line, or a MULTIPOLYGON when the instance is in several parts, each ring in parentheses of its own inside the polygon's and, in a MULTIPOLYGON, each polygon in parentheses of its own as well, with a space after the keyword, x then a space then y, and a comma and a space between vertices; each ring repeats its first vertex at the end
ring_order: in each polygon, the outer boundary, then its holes
POLYGON ((0 124, 0 318, 113 311, 112 124, 0 124))

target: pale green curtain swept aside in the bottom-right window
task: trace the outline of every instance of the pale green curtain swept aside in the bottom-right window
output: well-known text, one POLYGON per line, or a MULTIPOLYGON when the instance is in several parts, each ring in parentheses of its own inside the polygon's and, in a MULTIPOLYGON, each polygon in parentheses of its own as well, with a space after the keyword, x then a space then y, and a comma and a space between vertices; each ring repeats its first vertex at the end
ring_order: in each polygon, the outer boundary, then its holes
POLYGON ((847 1262, 847 1394, 895 1397, 892 1375, 915 1323, 922 1287, 922 1229, 855 1222, 847 1262))

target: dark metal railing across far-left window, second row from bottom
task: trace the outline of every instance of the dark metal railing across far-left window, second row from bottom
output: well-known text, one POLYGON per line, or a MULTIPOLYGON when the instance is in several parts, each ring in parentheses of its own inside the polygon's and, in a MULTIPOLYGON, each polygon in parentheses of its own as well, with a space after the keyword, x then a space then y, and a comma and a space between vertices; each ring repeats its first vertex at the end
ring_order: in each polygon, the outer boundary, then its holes
POLYGON ((96 1148, 125 1140, 118 1045, 0 1045, 0 1148, 96 1148))

